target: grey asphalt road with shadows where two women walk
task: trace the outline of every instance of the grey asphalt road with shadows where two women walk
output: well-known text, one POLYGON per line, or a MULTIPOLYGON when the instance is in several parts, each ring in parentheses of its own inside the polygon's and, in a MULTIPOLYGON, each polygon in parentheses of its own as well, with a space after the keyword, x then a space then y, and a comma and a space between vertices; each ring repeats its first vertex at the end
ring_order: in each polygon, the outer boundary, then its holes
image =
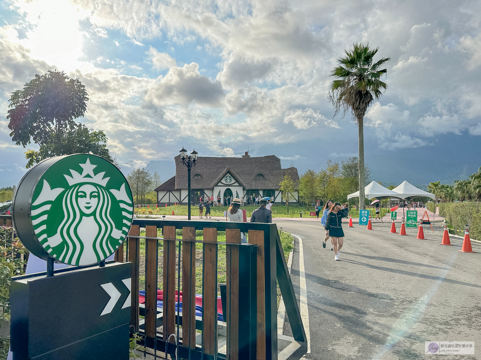
MULTIPOLYGON (((425 341, 475 341, 481 359, 481 246, 344 227, 339 262, 316 222, 274 221, 303 240, 311 353, 306 359, 432 359, 425 341)), ((291 272, 299 301, 299 244, 291 272)), ((291 335, 288 320, 284 335, 291 335)))

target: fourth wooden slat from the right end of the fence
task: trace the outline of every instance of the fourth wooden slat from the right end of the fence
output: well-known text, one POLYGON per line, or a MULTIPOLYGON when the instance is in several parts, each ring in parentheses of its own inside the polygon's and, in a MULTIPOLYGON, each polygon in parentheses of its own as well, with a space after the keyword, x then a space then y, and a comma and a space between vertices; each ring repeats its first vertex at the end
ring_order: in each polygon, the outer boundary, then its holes
POLYGON ((182 345, 195 348, 195 228, 182 228, 182 345), (190 259, 192 251, 192 259, 190 259), (192 262, 192 281, 190 263, 192 262), (190 317, 189 317, 190 299, 190 317))

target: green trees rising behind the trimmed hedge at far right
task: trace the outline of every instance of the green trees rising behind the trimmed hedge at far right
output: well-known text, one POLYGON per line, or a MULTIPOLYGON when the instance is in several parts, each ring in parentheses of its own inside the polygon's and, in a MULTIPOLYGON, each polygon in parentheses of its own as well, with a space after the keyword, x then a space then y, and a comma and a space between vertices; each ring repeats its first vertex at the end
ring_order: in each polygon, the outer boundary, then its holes
POLYGON ((441 181, 431 182, 428 191, 443 203, 456 200, 479 202, 481 201, 481 168, 467 180, 455 180, 452 185, 441 184, 441 181))

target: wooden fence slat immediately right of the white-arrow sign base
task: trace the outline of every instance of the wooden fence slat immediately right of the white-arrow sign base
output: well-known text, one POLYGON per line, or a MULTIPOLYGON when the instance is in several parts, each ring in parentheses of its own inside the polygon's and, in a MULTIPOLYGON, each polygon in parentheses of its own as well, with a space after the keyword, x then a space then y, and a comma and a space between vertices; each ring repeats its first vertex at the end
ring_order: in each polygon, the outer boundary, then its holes
MULTIPOLYGON (((140 236, 139 225, 130 227, 129 235, 140 236)), ((128 239, 128 261, 132 263, 130 294, 130 332, 139 332, 139 238, 128 239)))

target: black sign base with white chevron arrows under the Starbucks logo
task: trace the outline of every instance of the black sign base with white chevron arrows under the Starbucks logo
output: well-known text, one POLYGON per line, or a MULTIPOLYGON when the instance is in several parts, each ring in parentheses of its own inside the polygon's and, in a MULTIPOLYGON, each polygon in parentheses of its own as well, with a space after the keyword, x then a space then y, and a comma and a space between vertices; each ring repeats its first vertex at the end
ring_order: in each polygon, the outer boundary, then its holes
POLYGON ((13 360, 128 360, 131 263, 35 275, 12 277, 13 360))

